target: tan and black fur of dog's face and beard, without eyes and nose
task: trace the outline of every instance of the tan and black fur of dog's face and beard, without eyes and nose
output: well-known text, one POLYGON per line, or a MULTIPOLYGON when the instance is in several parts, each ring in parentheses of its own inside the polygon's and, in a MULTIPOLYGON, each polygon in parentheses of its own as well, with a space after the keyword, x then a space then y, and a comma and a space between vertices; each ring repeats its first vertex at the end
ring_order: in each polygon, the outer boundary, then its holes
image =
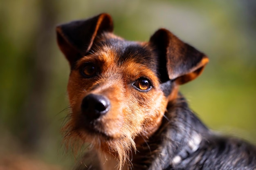
POLYGON ((167 99, 159 88, 155 55, 146 43, 124 42, 110 34, 102 36, 104 41, 95 40, 90 53, 77 61, 70 73, 67 91, 72 113, 63 127, 64 140, 74 150, 85 142, 92 143, 94 148, 117 157, 121 169, 131 151, 136 151, 138 141, 150 137, 161 124, 167 99), (79 72, 88 62, 99 71, 93 78, 79 72), (141 77, 150 80, 150 91, 141 92, 132 86, 141 77), (88 129, 81 102, 89 94, 104 95, 111 107, 88 129))

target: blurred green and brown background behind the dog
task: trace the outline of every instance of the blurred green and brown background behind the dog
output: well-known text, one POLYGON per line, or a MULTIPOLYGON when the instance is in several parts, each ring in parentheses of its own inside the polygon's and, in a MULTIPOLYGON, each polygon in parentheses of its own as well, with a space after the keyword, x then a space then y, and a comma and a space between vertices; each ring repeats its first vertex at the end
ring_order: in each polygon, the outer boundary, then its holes
POLYGON ((182 93, 211 129, 256 144, 256 1, 0 0, 0 155, 74 163, 61 146, 69 66, 55 26, 102 12, 128 40, 164 27, 206 53, 210 63, 182 93))

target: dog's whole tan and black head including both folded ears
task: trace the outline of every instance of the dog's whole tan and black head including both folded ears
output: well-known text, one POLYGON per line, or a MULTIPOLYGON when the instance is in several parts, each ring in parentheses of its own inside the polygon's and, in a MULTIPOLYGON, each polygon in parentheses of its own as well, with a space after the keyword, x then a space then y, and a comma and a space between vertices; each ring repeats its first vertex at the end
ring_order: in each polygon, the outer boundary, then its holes
POLYGON ((67 138, 122 159, 136 140, 157 130, 174 89, 198 77, 208 58, 166 29, 149 42, 126 41, 112 31, 110 15, 100 14, 58 26, 57 40, 71 68, 67 138))

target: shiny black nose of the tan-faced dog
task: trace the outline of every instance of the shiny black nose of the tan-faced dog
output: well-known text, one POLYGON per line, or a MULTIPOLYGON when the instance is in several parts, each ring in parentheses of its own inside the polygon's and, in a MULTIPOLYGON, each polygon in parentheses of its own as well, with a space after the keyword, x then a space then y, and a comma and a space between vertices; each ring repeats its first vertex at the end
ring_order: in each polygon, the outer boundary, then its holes
POLYGON ((82 113, 90 121, 105 115, 110 108, 110 101, 102 95, 90 94, 83 98, 82 113))

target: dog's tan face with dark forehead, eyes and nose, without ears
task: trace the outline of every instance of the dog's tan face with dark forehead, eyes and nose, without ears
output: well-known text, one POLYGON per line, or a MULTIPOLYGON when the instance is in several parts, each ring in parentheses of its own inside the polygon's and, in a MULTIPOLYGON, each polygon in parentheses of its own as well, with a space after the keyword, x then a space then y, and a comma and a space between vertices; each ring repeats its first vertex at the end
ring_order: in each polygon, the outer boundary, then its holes
POLYGON ((148 136, 167 104, 157 54, 147 43, 127 42, 112 33, 96 39, 70 74, 73 126, 89 141, 97 135, 103 141, 148 136))

